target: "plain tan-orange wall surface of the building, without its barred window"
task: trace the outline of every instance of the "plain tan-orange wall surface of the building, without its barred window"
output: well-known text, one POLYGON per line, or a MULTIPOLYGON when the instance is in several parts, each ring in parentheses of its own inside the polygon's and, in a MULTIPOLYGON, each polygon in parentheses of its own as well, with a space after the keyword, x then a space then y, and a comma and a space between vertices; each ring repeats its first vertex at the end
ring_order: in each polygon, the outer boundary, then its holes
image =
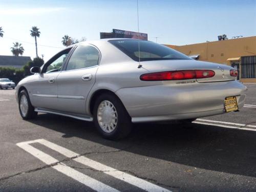
MULTIPOLYGON (((256 36, 203 42, 200 44, 185 46, 165 46, 175 49, 186 55, 200 55, 198 60, 231 65, 231 61, 227 60, 228 58, 256 55, 256 36)), ((238 60, 238 62, 240 62, 240 60, 238 60)), ((256 78, 241 78, 240 80, 242 82, 256 82, 256 78)))

